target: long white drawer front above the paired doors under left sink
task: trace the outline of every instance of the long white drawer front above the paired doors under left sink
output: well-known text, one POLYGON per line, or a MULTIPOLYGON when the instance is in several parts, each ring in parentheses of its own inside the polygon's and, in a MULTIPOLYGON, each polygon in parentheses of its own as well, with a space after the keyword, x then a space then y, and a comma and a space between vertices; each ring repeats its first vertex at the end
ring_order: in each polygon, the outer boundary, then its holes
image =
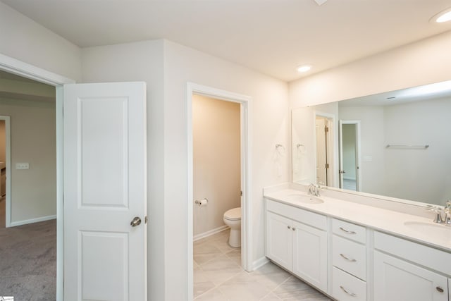
POLYGON ((305 223, 306 225, 319 228, 321 230, 327 229, 326 216, 323 216, 321 214, 316 214, 311 211, 292 207, 290 205, 285 205, 279 202, 272 201, 271 199, 266 200, 266 210, 272 211, 282 216, 286 216, 288 217, 288 219, 294 219, 295 221, 299 221, 299 223, 305 223))

